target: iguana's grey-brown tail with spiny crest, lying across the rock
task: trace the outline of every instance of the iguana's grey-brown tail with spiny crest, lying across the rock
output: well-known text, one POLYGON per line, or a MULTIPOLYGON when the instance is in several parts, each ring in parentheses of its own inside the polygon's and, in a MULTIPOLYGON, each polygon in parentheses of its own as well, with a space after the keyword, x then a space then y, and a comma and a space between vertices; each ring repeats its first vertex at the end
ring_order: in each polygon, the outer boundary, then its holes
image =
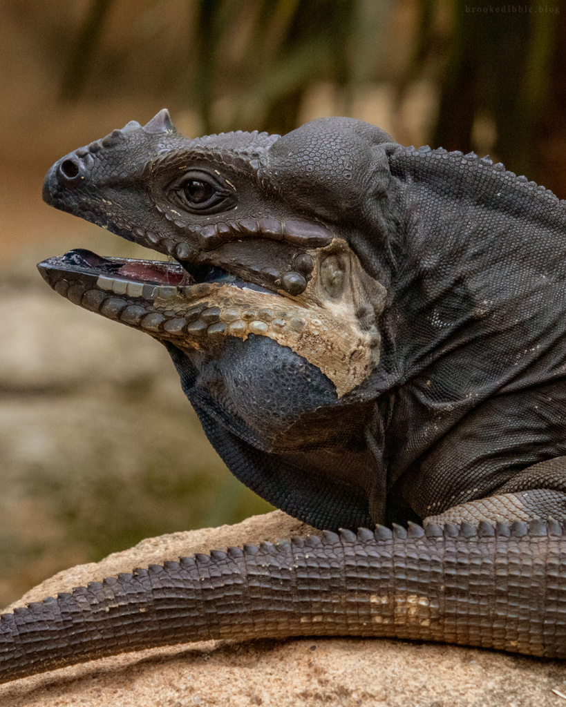
POLYGON ((0 681, 210 638, 393 636, 565 658, 564 532, 379 526, 134 570, 4 614, 0 681))

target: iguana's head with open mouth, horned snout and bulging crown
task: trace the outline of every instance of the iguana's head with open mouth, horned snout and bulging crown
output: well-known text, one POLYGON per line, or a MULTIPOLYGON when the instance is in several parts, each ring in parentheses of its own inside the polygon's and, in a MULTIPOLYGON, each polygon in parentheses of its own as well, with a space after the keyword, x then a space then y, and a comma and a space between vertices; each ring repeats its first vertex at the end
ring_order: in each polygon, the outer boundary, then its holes
MULTIPOLYGON (((166 110, 143 127, 130 122, 55 163, 44 199, 171 259, 73 250, 40 271, 72 302, 151 334, 201 368, 212 362, 217 372, 219 361, 244 356, 253 341, 266 351, 257 339, 270 339, 285 347, 277 365, 295 370, 297 385, 316 379, 324 389, 315 386, 307 408, 337 402, 379 362, 386 290, 349 236, 371 219, 362 195, 386 188, 386 160, 371 153, 380 142, 391 138, 349 119, 282 137, 198 139, 176 132, 166 110)), ((253 367, 270 377, 267 361, 253 367)), ((241 410, 237 381, 221 385, 233 387, 229 407, 241 410)), ((256 392, 265 416, 272 390, 256 392)), ((291 418, 304 412, 304 395, 296 407, 291 418)), ((289 426, 283 417, 273 433, 289 426)))

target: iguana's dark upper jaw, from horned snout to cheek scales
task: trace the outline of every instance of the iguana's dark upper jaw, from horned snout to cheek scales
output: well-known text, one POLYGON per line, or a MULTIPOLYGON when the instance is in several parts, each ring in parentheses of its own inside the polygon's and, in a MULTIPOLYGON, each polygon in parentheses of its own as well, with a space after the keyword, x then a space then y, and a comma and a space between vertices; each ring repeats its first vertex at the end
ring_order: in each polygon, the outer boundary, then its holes
POLYGON ((148 132, 147 126, 132 124, 69 153, 46 175, 45 201, 171 256, 189 272, 195 266, 216 266, 274 293, 304 292, 313 264, 306 254, 330 245, 335 233, 306 218, 277 214, 277 206, 270 216, 264 215, 265 206, 259 214, 253 206, 204 217, 183 212, 164 197, 170 177, 162 174, 163 162, 167 174, 173 167, 179 170, 179 157, 168 155, 175 154, 175 145, 183 153, 194 141, 171 132, 170 126, 160 119, 148 132), (127 151, 126 143, 132 144, 127 151), (145 158, 137 164, 140 148, 145 158), (122 153, 127 175, 117 174, 122 153))

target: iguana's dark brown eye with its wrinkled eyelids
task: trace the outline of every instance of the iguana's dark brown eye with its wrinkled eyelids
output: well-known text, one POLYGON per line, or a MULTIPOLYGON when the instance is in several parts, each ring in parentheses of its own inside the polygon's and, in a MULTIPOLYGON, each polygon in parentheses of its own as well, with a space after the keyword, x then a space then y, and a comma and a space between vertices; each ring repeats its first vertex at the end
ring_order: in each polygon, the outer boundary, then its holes
POLYGON ((233 192, 204 170, 189 170, 178 177, 170 187, 175 201, 186 211, 214 214, 236 205, 233 192))

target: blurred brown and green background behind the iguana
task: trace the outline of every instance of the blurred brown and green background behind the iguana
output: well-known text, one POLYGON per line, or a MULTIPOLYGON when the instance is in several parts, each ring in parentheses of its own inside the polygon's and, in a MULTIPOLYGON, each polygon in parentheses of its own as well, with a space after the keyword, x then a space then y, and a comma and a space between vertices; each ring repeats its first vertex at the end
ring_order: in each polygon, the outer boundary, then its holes
POLYGON ((559 0, 0 2, 0 606, 270 508, 210 448, 159 344, 40 279, 71 247, 155 257, 42 204, 47 168, 162 107, 189 136, 349 115, 564 198, 565 40, 559 0))

